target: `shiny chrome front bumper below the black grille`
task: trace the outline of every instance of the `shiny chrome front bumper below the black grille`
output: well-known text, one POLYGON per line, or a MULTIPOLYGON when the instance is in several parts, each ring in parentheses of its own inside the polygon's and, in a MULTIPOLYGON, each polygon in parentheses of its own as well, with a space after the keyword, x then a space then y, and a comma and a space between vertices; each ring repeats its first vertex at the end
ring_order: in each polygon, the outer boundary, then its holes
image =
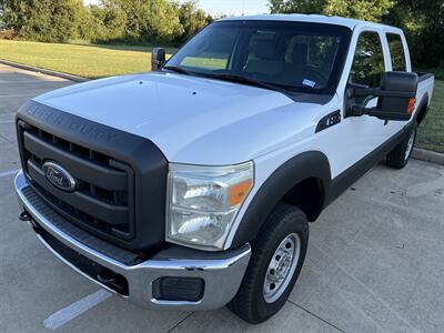
MULTIPOLYGON (((120 275, 128 281, 129 294, 124 296, 132 303, 150 309, 211 310, 229 303, 238 292, 249 264, 251 249, 245 244, 241 249, 228 252, 204 252, 173 245, 161 250, 148 260, 135 265, 123 264, 98 250, 85 246, 74 238, 58 229, 27 199, 23 190, 29 186, 26 176, 19 172, 14 180, 20 206, 32 216, 39 228, 60 243, 120 275), (204 281, 204 293, 200 301, 164 301, 153 297, 153 282, 159 278, 200 278, 204 281)), ((39 240, 60 260, 100 286, 114 292, 103 283, 85 274, 72 262, 63 258, 42 236, 39 240)))

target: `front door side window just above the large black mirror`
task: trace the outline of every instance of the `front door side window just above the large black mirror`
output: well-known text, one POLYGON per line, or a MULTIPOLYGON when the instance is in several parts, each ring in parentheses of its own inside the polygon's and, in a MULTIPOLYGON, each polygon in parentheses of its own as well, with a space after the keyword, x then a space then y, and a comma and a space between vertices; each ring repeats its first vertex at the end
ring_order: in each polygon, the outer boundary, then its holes
POLYGON ((384 71, 384 52, 380 36, 371 31, 361 33, 354 53, 351 81, 377 88, 384 71))

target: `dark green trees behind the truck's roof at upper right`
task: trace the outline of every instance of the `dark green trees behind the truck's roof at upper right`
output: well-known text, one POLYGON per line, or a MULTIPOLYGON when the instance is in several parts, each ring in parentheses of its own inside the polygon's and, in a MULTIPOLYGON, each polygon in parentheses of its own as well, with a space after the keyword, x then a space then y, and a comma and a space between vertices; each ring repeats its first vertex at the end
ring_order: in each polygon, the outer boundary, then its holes
POLYGON ((384 22, 406 34, 413 63, 444 67, 444 0, 270 0, 272 12, 323 13, 384 22))

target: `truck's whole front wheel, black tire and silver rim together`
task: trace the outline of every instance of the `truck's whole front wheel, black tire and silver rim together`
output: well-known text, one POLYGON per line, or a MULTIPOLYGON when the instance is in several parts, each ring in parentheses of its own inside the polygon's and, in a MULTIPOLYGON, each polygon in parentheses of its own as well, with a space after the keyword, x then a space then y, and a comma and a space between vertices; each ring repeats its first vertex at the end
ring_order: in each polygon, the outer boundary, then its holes
POLYGON ((252 324, 285 304, 301 272, 309 243, 309 222, 295 206, 279 203, 252 243, 252 258, 229 309, 252 324))

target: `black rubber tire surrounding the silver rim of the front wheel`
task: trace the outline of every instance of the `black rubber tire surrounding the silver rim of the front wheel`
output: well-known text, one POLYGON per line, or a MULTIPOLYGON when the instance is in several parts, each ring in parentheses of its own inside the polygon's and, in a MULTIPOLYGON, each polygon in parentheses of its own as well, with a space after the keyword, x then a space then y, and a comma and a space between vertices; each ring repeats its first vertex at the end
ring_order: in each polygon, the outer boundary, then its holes
POLYGON ((264 229, 251 244, 252 256, 235 297, 228 307, 244 321, 258 324, 266 321, 285 304, 289 294, 301 272, 309 244, 309 221, 297 208, 279 203, 266 220, 264 229), (283 293, 269 303, 265 301, 264 282, 269 272, 269 264, 274 258, 276 249, 287 235, 297 234, 300 239, 300 255, 293 276, 289 276, 283 293))

